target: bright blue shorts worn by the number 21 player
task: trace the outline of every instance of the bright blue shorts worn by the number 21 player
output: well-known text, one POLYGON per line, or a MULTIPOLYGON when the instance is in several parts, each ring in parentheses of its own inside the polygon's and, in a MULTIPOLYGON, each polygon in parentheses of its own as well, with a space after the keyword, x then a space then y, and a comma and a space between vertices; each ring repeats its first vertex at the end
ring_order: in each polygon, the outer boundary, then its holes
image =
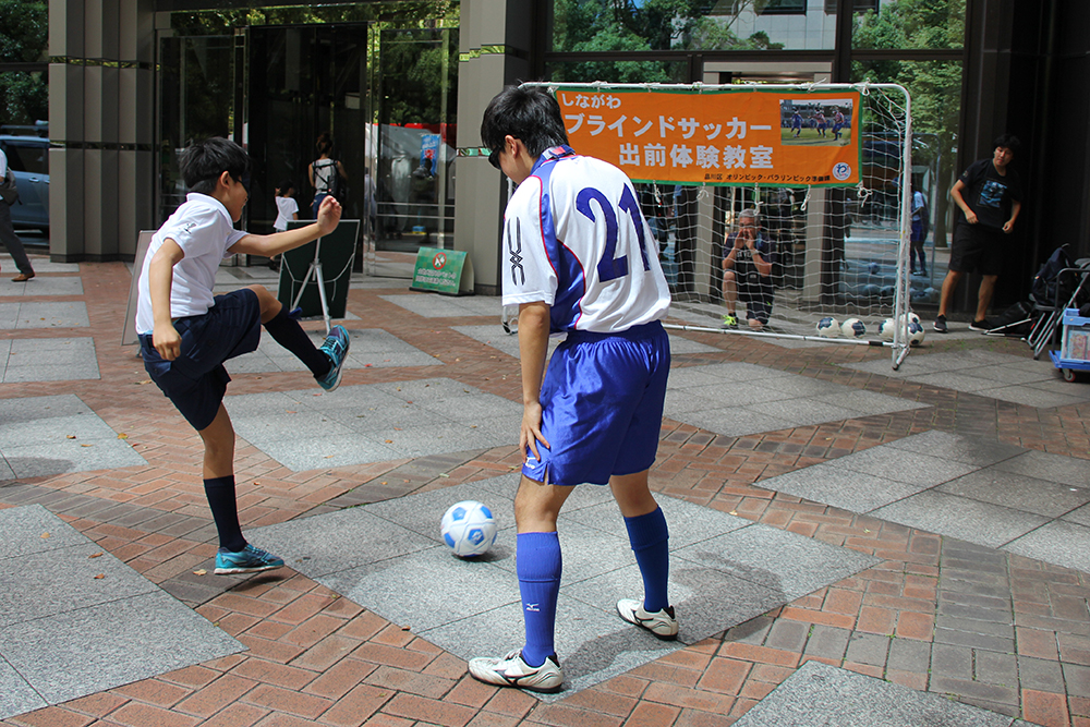
POLYGON ((618 334, 573 331, 542 383, 541 462, 522 474, 554 485, 608 484, 651 468, 658 450, 670 341, 658 322, 618 334))

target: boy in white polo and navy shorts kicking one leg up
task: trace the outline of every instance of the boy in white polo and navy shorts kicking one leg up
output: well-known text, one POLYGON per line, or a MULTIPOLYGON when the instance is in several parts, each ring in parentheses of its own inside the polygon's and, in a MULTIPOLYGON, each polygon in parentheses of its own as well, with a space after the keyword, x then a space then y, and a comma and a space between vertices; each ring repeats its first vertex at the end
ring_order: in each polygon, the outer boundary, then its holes
POLYGON ((219 574, 283 566, 283 560, 242 536, 234 498, 234 428, 223 407, 231 377, 223 362, 254 351, 264 325, 277 343, 311 369, 323 389, 332 391, 340 384, 349 348, 342 326, 334 326, 322 348, 315 348, 263 286, 213 295, 223 257, 238 253, 272 257, 329 234, 340 222, 340 204, 327 197, 314 225, 268 235, 235 230, 249 198, 250 169, 246 152, 225 138, 185 149, 182 178, 190 193, 152 238, 136 306, 144 367, 204 441, 204 486, 219 533, 219 574))

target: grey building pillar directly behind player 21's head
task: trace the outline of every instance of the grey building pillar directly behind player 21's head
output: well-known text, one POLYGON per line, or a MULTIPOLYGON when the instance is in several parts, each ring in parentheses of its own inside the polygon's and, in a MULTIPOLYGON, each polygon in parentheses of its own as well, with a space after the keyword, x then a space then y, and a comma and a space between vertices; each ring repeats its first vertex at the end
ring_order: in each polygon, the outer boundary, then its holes
MULTIPOLYGON (((481 146, 481 118, 505 85, 528 80, 530 24, 520 0, 462 0, 459 31, 458 145, 481 146)), ((487 155, 462 156, 457 163, 458 204, 455 250, 469 253, 475 290, 499 294, 500 240, 507 206, 507 178, 487 155)))

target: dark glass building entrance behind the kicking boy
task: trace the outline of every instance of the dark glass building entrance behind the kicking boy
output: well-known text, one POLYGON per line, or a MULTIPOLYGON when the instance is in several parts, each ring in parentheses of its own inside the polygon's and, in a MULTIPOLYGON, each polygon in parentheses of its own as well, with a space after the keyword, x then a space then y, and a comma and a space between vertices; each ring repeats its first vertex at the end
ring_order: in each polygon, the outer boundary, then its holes
POLYGON ((157 222, 184 201, 182 149, 213 135, 254 160, 247 230, 272 231, 275 191, 287 180, 307 219, 310 167, 328 137, 344 217, 362 220, 362 251, 378 253, 359 259, 411 276, 402 257, 452 238, 457 52, 457 28, 389 22, 160 37, 157 222))

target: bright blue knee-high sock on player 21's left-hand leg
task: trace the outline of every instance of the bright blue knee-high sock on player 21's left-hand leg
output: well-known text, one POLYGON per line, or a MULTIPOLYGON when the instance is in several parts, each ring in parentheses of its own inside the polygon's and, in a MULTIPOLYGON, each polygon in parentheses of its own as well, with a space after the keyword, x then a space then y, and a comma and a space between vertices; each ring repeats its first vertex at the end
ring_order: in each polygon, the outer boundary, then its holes
POLYGON ((556 597, 560 592, 560 538, 554 533, 519 533, 516 570, 522 593, 522 618, 526 625, 526 645, 522 658, 530 666, 541 666, 556 651, 556 597))

